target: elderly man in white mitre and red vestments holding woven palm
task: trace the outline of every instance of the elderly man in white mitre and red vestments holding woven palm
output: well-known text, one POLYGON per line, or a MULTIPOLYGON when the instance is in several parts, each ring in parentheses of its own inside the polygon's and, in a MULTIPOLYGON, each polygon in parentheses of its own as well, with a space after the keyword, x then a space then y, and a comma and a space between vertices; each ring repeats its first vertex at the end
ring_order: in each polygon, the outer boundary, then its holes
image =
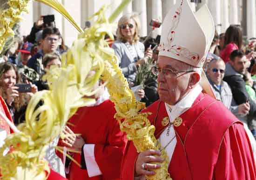
POLYGON ((216 100, 202 71, 214 32, 207 6, 193 13, 188 0, 177 0, 168 12, 157 66, 152 68, 158 76, 160 100, 142 111, 152 113, 148 119, 155 126, 161 151, 138 153, 129 141, 122 180, 145 180, 145 175, 154 175, 162 166, 163 149, 173 180, 256 179, 243 123, 216 100))

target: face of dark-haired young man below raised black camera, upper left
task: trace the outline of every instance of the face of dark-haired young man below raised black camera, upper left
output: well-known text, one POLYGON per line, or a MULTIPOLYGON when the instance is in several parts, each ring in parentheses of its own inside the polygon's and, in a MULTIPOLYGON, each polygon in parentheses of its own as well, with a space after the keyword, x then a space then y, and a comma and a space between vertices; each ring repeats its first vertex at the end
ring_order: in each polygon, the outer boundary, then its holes
POLYGON ((50 34, 41 40, 44 53, 54 52, 57 50, 59 42, 59 36, 56 34, 50 34))

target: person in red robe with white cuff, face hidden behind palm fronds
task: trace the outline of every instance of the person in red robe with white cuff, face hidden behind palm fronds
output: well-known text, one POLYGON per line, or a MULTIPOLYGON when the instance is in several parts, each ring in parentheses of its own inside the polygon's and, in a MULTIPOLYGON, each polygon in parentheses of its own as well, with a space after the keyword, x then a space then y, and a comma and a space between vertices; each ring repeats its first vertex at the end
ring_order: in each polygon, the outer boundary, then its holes
MULTIPOLYGON (((127 140, 114 118, 114 103, 106 98, 104 92, 106 91, 103 87, 103 91, 101 88, 94 96, 96 103, 93 106, 79 108, 68 121, 68 124, 72 125, 68 125, 70 129, 67 128, 65 132, 72 130, 81 135, 76 137, 73 144, 73 148, 81 149, 81 154, 70 154, 74 160, 81 163, 81 167, 70 161, 66 168, 69 180, 120 179, 121 160, 127 140)), ((64 139, 59 145, 67 146, 68 143, 73 143, 71 141, 64 139)))

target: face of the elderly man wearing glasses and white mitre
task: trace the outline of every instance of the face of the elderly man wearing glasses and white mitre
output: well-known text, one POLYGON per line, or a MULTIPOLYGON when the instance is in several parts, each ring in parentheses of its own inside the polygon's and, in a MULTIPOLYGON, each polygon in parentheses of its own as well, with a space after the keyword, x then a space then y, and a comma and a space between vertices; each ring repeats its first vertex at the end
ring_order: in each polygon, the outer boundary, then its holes
MULTIPOLYGON (((182 62, 165 56, 158 57, 157 66, 160 69, 167 68, 172 71, 188 71, 186 69, 182 69, 182 62)), ((157 76, 157 92, 160 100, 170 105, 178 103, 189 91, 189 80, 191 74, 192 73, 190 72, 181 72, 167 77, 164 75, 163 71, 161 71, 157 76)))

